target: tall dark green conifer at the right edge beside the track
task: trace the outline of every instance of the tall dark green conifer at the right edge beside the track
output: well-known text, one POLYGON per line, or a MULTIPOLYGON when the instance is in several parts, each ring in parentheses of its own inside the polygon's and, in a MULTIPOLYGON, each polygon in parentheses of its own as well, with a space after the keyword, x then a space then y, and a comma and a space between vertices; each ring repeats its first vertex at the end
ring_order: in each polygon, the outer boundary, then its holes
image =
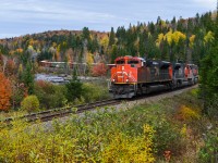
POLYGON ((209 116, 218 116, 218 18, 213 29, 215 37, 211 32, 208 32, 205 36, 205 40, 207 40, 207 43, 210 42, 210 46, 206 57, 201 62, 201 92, 205 105, 204 112, 209 116))

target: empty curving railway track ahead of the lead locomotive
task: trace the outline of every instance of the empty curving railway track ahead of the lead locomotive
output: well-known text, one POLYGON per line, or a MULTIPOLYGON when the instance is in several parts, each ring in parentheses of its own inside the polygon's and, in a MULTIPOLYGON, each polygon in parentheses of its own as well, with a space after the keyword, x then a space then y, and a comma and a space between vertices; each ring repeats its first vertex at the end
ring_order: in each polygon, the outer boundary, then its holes
MULTIPOLYGON (((48 122, 57 117, 63 117, 71 113, 82 113, 85 111, 94 110, 96 108, 105 106, 105 105, 112 105, 120 103, 120 100, 104 100, 104 101, 97 101, 94 103, 86 103, 75 106, 66 106, 61 109, 55 109, 55 110, 48 110, 44 112, 38 113, 31 113, 23 116, 20 116, 17 118, 25 118, 27 122, 35 122, 37 120, 40 120, 41 122, 48 122)), ((12 117, 5 118, 3 122, 10 123, 13 121, 12 117)))

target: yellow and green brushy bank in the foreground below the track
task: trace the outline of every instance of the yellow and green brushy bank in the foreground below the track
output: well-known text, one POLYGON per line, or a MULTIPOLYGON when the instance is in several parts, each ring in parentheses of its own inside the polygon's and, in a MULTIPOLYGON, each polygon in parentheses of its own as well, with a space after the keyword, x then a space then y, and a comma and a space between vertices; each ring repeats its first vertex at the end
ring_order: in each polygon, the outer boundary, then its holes
POLYGON ((23 120, 12 121, 10 126, 1 122, 0 162, 152 163, 215 159, 208 154, 216 151, 217 139, 211 135, 216 124, 202 114, 196 95, 193 89, 158 103, 119 111, 105 108, 85 112, 84 116, 73 114, 64 123, 52 121, 51 130, 41 125, 33 127, 23 120))

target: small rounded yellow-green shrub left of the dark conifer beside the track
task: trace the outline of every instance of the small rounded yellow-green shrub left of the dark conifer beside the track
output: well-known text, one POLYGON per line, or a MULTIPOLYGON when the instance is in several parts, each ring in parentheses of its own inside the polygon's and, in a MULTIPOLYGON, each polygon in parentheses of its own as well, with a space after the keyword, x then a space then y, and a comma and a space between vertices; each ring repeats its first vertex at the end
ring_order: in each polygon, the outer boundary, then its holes
POLYGON ((21 102, 21 109, 27 112, 37 111, 39 109, 39 101, 36 96, 28 96, 21 102))

